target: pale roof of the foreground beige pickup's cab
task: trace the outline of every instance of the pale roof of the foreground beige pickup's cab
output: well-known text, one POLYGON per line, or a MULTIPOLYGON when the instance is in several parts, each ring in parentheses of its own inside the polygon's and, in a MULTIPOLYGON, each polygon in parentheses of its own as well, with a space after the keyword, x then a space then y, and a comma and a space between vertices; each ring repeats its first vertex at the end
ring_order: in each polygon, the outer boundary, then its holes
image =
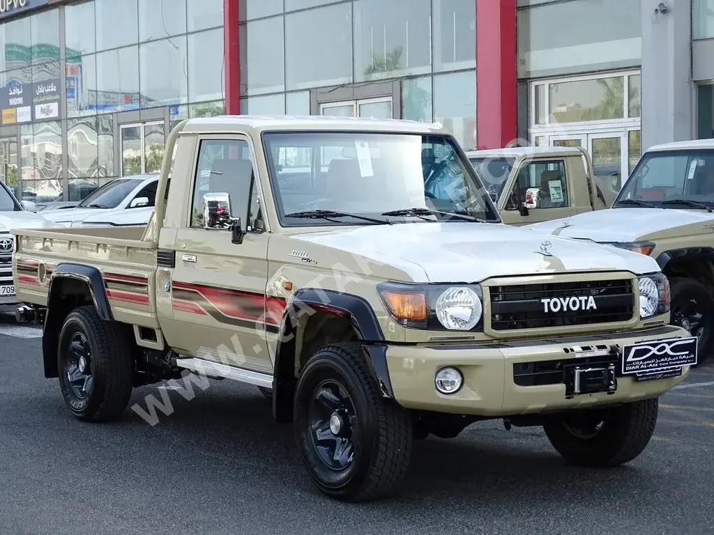
POLYGON ((406 133, 447 133, 439 123, 420 123, 400 119, 372 119, 332 116, 218 116, 188 119, 183 132, 206 131, 314 131, 354 130, 406 133))

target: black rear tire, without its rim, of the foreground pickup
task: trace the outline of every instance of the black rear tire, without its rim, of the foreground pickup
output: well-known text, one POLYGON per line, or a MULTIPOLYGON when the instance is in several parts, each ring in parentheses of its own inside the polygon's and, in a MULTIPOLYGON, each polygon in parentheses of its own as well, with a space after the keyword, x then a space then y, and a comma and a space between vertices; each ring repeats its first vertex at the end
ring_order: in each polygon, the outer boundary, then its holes
POLYGON ((67 316, 59 335, 57 363, 59 385, 67 406, 85 422, 106 422, 121 417, 131 397, 134 358, 129 332, 124 326, 102 320, 94 306, 78 307, 67 316), (86 337, 91 348, 93 379, 89 395, 79 400, 66 377, 68 344, 76 333, 86 337))

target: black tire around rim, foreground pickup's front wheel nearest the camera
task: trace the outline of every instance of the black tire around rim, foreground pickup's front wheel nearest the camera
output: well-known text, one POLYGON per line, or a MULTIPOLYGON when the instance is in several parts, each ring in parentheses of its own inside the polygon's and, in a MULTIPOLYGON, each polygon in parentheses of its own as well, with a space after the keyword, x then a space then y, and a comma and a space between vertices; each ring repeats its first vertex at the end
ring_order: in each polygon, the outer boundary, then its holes
POLYGON ((411 460, 411 414, 384 399, 361 347, 345 343, 323 347, 298 379, 293 427, 303 463, 324 494, 343 501, 368 501, 391 494, 411 460), (319 457, 310 424, 314 395, 326 381, 340 382, 356 409, 358 433, 351 464, 334 472, 319 457))

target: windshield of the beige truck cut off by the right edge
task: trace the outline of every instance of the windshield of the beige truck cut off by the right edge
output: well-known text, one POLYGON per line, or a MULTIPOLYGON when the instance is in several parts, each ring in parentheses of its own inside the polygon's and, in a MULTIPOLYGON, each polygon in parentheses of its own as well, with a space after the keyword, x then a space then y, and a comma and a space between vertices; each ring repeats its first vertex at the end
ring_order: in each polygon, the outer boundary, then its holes
POLYGON ((645 153, 613 207, 630 208, 633 201, 670 208, 675 201, 714 203, 714 151, 645 153))

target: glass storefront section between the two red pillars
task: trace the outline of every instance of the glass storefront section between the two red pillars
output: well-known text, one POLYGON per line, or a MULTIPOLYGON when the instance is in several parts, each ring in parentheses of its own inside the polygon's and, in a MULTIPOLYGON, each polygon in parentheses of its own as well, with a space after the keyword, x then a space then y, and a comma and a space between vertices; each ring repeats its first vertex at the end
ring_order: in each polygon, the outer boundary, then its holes
POLYGON ((476 2, 241 1, 241 113, 439 121, 476 147, 476 2))

